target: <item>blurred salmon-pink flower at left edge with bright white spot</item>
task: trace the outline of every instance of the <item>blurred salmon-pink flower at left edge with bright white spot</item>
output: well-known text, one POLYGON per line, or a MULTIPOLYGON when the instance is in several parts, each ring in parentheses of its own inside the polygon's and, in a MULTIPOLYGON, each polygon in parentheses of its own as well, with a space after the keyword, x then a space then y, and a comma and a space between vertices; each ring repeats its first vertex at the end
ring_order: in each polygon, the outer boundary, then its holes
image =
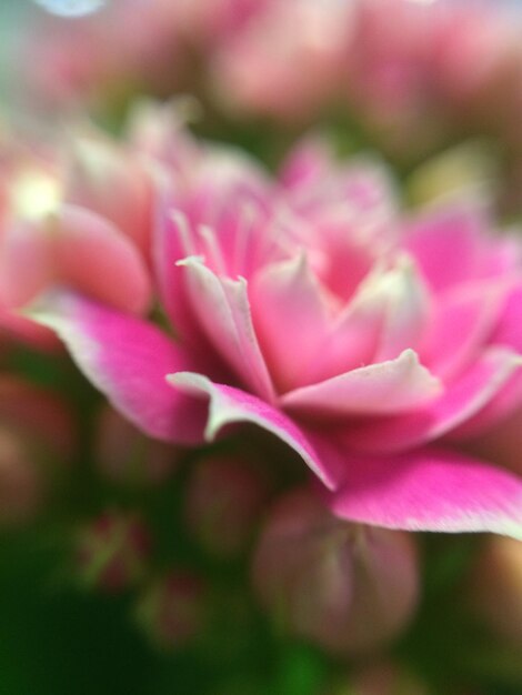
POLYGON ((61 284, 145 312, 152 169, 138 152, 77 124, 44 153, 18 147, 2 191, 0 305, 23 305, 61 284))

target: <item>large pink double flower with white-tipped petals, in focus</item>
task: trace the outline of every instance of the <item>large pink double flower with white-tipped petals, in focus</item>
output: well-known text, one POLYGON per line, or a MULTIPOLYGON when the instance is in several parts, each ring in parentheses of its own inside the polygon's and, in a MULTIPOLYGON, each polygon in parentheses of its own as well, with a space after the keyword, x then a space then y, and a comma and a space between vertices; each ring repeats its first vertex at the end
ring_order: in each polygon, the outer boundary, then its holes
POLYGON ((520 243, 468 202, 401 214, 380 168, 335 167, 319 143, 280 181, 192 148, 177 160, 164 140, 154 230, 177 340, 63 291, 39 320, 152 436, 194 444, 253 423, 341 517, 522 536, 522 481, 449 443, 520 404, 520 243))

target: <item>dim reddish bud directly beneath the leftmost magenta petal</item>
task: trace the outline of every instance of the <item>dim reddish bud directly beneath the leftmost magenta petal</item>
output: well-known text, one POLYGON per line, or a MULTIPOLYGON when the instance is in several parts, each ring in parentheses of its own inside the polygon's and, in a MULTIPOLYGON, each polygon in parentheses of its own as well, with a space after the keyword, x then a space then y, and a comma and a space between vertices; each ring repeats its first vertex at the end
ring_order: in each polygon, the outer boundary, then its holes
POLYGON ((128 485, 159 484, 177 462, 172 445, 150 440, 110 405, 100 413, 96 456, 104 477, 128 485))

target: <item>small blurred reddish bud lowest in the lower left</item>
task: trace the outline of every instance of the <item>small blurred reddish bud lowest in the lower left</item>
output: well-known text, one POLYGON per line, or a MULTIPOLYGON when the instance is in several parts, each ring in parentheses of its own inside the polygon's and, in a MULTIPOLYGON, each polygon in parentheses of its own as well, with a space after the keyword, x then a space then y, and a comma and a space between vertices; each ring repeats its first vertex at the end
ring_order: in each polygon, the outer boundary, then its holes
POLYGON ((190 572, 173 571, 145 590, 137 617, 150 639, 162 648, 182 647, 200 634, 204 588, 190 572))

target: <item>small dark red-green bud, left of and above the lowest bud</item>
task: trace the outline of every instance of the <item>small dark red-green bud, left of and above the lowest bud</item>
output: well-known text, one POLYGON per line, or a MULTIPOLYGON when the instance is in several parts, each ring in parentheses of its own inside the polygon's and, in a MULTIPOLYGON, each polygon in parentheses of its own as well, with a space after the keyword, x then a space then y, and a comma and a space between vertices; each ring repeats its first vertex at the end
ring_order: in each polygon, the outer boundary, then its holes
POLYGON ((84 526, 77 538, 77 566, 83 584, 119 592, 141 580, 151 541, 133 514, 104 512, 84 526))

